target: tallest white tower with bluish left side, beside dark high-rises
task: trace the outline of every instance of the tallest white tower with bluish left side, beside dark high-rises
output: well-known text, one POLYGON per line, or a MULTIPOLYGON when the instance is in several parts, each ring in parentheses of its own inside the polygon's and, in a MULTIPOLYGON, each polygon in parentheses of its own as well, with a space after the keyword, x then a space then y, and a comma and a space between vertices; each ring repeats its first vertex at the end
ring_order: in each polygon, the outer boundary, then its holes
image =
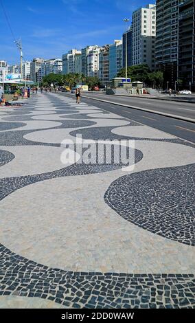
POLYGON ((148 64, 154 69, 156 5, 148 4, 133 12, 132 65, 148 64))

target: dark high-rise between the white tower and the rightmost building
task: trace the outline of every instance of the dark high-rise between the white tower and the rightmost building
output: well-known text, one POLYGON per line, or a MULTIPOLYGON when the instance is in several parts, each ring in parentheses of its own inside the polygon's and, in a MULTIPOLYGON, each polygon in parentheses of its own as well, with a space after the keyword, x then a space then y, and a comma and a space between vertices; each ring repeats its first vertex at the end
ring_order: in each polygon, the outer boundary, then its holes
POLYGON ((165 82, 174 88, 177 80, 179 4, 182 0, 157 0, 156 68, 164 71, 165 82))

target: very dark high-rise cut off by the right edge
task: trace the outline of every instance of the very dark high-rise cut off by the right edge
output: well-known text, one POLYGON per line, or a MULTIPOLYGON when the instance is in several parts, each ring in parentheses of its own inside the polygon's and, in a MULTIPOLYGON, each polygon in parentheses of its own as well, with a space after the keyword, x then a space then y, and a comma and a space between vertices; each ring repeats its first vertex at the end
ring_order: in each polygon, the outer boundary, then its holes
POLYGON ((178 79, 182 87, 195 91, 195 1, 179 5, 178 79))

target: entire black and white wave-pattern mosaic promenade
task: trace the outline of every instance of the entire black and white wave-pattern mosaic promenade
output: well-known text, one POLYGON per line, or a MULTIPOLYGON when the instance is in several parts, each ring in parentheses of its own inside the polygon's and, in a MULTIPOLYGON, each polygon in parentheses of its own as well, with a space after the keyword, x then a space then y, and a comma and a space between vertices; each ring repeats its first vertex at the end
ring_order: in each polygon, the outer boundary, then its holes
POLYGON ((0 307, 195 308, 194 157, 193 144, 71 96, 1 108, 0 307), (78 135, 133 140, 133 160, 98 164, 97 150, 78 163, 78 135))

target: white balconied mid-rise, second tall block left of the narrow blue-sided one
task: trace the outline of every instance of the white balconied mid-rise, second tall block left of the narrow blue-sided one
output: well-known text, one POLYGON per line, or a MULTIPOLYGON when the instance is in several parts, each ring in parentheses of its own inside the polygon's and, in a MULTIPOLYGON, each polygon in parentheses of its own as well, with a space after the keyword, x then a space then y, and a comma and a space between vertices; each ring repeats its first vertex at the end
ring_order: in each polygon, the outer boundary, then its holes
POLYGON ((99 76, 101 47, 95 45, 87 54, 87 76, 99 76))

